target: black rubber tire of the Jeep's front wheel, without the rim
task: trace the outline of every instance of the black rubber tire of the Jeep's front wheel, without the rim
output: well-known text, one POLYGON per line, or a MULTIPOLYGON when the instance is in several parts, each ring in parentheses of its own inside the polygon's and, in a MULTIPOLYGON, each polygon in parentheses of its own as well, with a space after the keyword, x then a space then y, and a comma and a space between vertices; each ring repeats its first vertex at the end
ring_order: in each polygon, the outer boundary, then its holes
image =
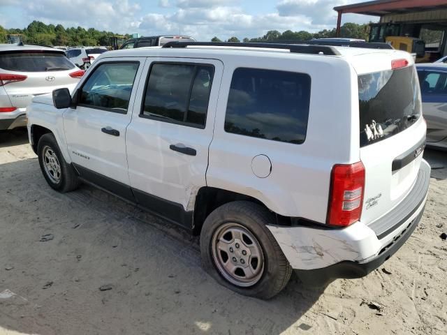
POLYGON ((61 150, 59 149, 59 145, 57 145, 56 138, 52 133, 47 133, 42 135, 38 144, 37 144, 37 154, 39 165, 41 165, 41 170, 43 173, 43 177, 47 183, 54 188, 54 190, 59 191, 61 193, 69 192, 78 188, 80 181, 78 179, 78 175, 76 174, 73 167, 66 163, 64 156, 61 154, 61 150), (54 155, 57 157, 57 161, 60 165, 60 178, 59 181, 54 181, 45 170, 44 166, 44 157, 43 151, 45 148, 50 148, 54 151, 54 155))

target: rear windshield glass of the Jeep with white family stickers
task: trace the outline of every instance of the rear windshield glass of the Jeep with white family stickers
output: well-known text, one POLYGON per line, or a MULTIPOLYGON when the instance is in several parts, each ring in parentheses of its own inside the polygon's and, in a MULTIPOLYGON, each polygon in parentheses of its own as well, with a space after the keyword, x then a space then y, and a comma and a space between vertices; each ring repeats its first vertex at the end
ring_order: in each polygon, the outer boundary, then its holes
POLYGON ((358 76, 360 147, 385 140, 420 117, 420 89, 414 66, 358 76))

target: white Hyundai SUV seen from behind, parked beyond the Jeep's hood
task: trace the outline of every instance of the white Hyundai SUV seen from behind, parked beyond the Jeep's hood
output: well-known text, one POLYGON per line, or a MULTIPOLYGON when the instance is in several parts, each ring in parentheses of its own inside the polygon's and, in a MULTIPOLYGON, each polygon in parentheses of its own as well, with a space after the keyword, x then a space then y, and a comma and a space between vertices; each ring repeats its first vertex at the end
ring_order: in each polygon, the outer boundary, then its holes
POLYGON ((0 44, 0 131, 27 126, 25 108, 34 96, 72 90, 83 74, 62 50, 0 44))

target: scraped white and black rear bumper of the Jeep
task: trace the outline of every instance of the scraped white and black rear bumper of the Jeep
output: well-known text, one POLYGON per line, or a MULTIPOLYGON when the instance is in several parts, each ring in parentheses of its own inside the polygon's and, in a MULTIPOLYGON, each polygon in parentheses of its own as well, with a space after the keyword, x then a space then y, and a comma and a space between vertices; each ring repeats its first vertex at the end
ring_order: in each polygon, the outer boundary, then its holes
POLYGON ((390 258, 416 229, 430 184, 430 165, 422 161, 409 195, 370 225, 343 229, 269 225, 291 267, 302 281, 322 285, 333 278, 359 278, 390 258))

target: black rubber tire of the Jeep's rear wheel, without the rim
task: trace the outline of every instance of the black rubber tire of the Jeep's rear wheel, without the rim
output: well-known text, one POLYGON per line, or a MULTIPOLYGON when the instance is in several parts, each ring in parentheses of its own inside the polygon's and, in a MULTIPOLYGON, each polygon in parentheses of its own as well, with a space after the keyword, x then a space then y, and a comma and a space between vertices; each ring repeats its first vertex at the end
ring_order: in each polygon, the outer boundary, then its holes
POLYGON ((200 251, 202 265, 218 283, 241 295, 270 299, 284 289, 291 277, 292 268, 281 251, 276 239, 266 225, 273 223, 274 216, 268 209, 248 201, 236 201, 223 204, 212 211, 203 223, 200 233, 200 251), (263 274, 254 285, 241 287, 230 283, 213 258, 212 239, 219 227, 228 223, 236 223, 247 229, 256 237, 263 252, 263 274))

